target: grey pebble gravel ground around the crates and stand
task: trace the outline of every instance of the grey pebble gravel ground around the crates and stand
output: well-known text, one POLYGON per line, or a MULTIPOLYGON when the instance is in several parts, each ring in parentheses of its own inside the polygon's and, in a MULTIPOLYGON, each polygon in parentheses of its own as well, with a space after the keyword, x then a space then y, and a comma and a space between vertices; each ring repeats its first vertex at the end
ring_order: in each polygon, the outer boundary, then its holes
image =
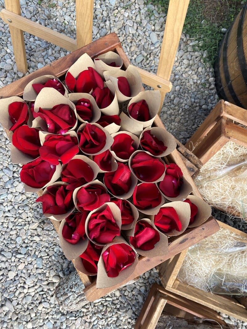
MULTIPOLYGON (((54 31, 75 38, 75 7, 68 0, 52 2, 20 0, 23 16, 54 31), (51 7, 51 8, 50 8, 51 7)), ((0 9, 4 1, 0 0, 0 9)), ((95 1, 93 39, 116 32, 132 64, 155 72, 166 15, 144 0, 95 1)), ((23 76, 17 72, 8 25, 0 20, 0 87, 23 76)), ((27 33, 24 34, 29 72, 65 56, 68 52, 27 33)), ((217 103, 213 70, 197 40, 182 34, 161 118, 168 131, 185 143, 217 103)), ((27 74, 28 74, 27 73, 27 74)), ((124 287, 89 303, 78 312, 59 308, 54 289, 60 278, 74 270, 58 245, 42 239, 45 222, 36 196, 24 193, 20 166, 10 162, 10 142, 0 128, 0 313, 2 328, 133 328, 151 284, 159 283, 153 269, 124 287)), ((216 212, 217 213, 217 212, 216 212)), ((217 213, 217 216, 220 216, 217 213)), ((246 229, 238 219, 222 217, 228 224, 246 229)), ((223 315, 225 316, 225 315, 223 315)), ((228 323, 237 322, 227 317, 228 323)), ((246 323, 237 328, 245 328, 246 323)))

